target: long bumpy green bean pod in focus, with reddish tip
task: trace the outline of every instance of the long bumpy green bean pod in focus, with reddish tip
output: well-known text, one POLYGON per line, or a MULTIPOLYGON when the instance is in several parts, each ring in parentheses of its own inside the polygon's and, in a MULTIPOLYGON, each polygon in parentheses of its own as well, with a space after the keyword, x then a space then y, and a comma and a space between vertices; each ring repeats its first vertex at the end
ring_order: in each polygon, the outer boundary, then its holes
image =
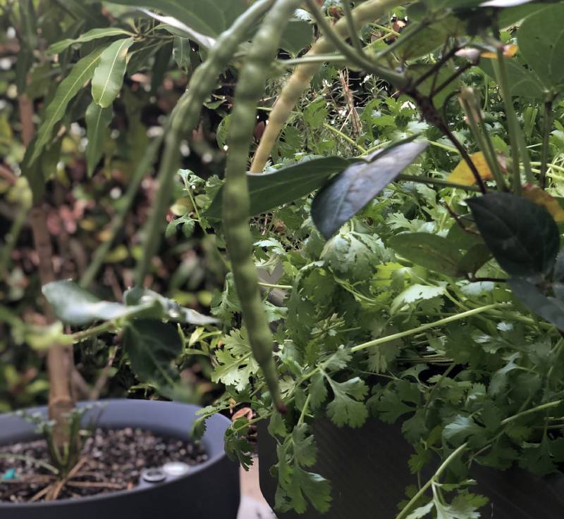
POLYGON ((223 187, 223 226, 235 288, 255 360, 279 411, 285 406, 278 387, 278 372, 272 355, 273 340, 259 291, 259 278, 252 260, 249 227, 247 164, 256 125, 257 100, 264 93, 266 77, 280 45, 286 23, 300 0, 277 0, 265 16, 240 70, 228 132, 228 154, 223 187))

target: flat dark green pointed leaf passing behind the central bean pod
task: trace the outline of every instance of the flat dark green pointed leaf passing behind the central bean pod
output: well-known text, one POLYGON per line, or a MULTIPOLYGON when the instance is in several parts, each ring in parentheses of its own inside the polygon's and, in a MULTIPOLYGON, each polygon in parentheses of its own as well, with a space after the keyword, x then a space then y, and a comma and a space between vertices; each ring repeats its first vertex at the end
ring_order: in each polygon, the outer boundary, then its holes
MULTIPOLYGON (((324 185, 326 180, 343 171, 350 161, 339 157, 314 158, 302 161, 274 173, 247 173, 250 193, 250 215, 265 213, 274 207, 288 204, 314 189, 324 185)), ((207 218, 221 218, 221 198, 219 190, 204 215, 207 218)))

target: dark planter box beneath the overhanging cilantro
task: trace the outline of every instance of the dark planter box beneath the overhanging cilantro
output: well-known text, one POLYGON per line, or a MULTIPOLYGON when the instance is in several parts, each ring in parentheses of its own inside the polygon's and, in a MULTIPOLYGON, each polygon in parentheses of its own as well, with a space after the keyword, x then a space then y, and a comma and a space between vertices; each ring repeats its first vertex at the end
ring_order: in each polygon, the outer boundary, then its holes
MULTIPOLYGON (((277 514, 278 519, 394 519, 405 487, 417 484, 407 468, 413 449, 400 427, 369 420, 364 427, 339 428, 325 418, 314 420, 317 464, 313 472, 331 480, 331 510, 321 515, 308 510, 277 514)), ((276 480, 269 470, 277 463, 276 443, 259 427, 259 473, 262 494, 274 508, 276 480)), ((482 519, 564 518, 564 474, 539 477, 525 470, 494 470, 474 466, 479 482, 472 492, 489 497, 482 519)))

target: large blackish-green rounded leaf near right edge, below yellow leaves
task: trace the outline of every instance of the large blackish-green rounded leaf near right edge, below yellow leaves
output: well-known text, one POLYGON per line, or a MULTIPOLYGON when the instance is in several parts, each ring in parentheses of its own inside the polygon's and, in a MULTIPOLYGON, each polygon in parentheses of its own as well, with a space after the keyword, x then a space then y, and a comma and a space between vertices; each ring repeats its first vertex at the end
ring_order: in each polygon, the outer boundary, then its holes
POLYGON ((467 199, 491 254, 512 276, 548 273, 558 254, 560 234, 538 204, 510 193, 467 199))

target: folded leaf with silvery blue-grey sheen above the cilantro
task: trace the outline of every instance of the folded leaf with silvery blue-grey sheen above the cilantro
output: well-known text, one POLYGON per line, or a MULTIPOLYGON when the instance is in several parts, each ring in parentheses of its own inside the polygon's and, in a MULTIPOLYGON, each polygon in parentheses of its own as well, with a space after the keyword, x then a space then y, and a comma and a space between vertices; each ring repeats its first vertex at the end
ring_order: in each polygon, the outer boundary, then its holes
POLYGON ((312 218, 321 235, 333 236, 426 148, 424 141, 398 144, 369 162, 350 165, 331 180, 312 202, 312 218))

